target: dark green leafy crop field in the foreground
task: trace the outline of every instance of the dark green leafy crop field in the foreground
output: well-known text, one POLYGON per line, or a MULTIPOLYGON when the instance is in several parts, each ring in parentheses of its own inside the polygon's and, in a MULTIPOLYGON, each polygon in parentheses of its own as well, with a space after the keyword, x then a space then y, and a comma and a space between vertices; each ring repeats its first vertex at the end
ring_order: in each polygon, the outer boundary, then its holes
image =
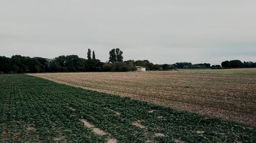
POLYGON ((25 74, 0 75, 0 142, 255 141, 256 129, 238 123, 25 74))

